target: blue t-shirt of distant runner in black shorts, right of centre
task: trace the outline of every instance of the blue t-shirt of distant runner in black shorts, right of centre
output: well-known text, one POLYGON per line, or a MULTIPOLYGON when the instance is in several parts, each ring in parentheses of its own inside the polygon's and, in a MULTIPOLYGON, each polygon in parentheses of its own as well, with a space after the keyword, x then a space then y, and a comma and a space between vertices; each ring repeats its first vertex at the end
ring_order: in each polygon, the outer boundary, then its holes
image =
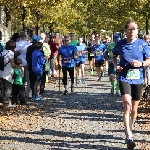
POLYGON ((93 45, 92 51, 96 51, 95 53, 95 60, 105 60, 104 58, 104 52, 106 50, 106 46, 103 43, 100 43, 100 45, 93 45))

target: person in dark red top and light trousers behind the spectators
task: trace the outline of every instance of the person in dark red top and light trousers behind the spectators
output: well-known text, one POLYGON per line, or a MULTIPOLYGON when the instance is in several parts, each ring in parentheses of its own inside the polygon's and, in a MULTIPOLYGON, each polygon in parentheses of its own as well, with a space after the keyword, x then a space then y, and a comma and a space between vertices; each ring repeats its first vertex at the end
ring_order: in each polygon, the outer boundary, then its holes
POLYGON ((51 49, 51 56, 50 56, 50 70, 51 70, 51 77, 55 76, 55 62, 58 56, 58 49, 59 45, 55 42, 54 36, 50 35, 50 40, 48 41, 48 44, 50 45, 51 49))

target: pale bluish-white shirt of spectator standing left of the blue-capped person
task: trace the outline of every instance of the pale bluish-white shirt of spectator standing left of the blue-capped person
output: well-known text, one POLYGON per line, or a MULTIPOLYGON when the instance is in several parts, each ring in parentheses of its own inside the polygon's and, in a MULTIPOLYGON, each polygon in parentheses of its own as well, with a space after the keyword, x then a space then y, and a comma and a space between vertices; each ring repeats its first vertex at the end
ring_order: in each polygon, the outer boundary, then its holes
POLYGON ((17 58, 22 59, 22 66, 27 65, 26 53, 27 53, 27 47, 30 45, 31 45, 31 43, 26 40, 20 40, 19 42, 16 42, 15 51, 21 50, 21 54, 17 58))

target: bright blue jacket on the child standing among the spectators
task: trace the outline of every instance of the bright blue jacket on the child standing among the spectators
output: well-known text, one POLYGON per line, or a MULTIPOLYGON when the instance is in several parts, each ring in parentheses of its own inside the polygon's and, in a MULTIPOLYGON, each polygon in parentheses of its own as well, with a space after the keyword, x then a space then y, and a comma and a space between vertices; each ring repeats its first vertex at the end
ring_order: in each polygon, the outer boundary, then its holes
POLYGON ((43 73, 44 64, 45 64, 44 54, 42 53, 41 50, 36 49, 32 53, 32 71, 34 73, 43 73))

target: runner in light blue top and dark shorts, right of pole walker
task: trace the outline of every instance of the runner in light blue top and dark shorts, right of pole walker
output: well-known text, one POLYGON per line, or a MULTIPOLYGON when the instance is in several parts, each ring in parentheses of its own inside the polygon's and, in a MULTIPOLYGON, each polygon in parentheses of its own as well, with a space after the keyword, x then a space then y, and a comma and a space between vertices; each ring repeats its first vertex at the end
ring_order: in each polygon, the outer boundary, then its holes
POLYGON ((84 67, 85 67, 85 50, 86 50, 86 45, 83 43, 83 38, 79 38, 79 43, 76 45, 77 50, 78 50, 78 58, 76 59, 76 69, 77 69, 77 74, 79 77, 78 84, 79 83, 85 83, 84 79, 84 67), (81 74, 82 74, 82 79, 81 79, 81 74))

